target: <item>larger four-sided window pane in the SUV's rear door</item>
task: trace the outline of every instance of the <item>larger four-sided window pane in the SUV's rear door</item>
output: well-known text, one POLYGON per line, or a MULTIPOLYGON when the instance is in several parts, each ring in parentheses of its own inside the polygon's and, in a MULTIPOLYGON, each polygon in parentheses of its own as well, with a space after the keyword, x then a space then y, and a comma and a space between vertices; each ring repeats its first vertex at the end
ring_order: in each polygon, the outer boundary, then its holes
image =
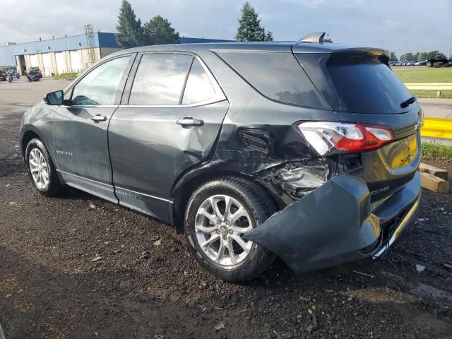
POLYGON ((129 105, 179 105, 192 59, 187 54, 144 54, 129 105))

